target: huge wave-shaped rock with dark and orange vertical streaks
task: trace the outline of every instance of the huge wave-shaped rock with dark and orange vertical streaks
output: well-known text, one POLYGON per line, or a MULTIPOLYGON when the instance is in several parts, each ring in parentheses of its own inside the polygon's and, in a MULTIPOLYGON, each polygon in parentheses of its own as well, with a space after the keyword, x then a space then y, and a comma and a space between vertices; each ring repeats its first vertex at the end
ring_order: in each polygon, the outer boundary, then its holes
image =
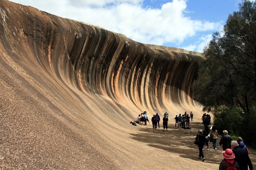
POLYGON ((0 169, 201 166, 189 158, 197 150, 179 152, 190 144, 172 143, 171 132, 129 122, 144 110, 201 116, 191 84, 202 56, 149 48, 7 0, 0 14, 0 169))

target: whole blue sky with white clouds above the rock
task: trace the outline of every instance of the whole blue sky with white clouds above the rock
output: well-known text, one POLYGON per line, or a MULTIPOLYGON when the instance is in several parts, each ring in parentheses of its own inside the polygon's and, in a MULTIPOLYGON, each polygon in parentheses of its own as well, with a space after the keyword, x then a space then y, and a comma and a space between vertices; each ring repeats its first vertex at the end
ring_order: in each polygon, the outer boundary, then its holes
POLYGON ((146 44, 202 52, 242 0, 11 0, 146 44))

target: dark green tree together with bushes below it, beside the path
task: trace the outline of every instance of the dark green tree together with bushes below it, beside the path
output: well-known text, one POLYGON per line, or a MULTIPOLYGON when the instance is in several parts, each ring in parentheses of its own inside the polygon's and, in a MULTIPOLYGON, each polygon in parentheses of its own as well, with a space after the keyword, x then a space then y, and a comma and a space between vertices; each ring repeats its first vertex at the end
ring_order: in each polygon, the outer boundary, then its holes
POLYGON ((204 48, 205 60, 194 82, 194 98, 211 111, 221 133, 256 144, 256 2, 244 0, 228 16, 222 33, 214 33, 204 48))

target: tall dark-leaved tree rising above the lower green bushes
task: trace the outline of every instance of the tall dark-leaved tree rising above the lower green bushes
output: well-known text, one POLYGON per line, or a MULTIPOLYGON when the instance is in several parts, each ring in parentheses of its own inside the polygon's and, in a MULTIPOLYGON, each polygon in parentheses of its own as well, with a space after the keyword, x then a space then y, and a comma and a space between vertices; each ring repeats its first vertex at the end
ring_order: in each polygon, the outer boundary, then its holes
POLYGON ((237 106, 249 114, 256 100, 256 2, 245 0, 239 9, 204 48, 194 89, 204 111, 237 106))

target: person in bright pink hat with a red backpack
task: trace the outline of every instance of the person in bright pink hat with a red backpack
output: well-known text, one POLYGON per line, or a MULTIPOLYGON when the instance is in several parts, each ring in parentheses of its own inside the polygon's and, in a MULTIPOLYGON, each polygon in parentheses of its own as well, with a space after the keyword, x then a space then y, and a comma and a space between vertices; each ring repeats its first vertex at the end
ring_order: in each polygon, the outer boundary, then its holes
POLYGON ((226 170, 229 167, 232 167, 231 169, 239 170, 239 165, 235 161, 235 155, 231 149, 223 151, 222 156, 224 159, 220 162, 219 170, 226 170))

